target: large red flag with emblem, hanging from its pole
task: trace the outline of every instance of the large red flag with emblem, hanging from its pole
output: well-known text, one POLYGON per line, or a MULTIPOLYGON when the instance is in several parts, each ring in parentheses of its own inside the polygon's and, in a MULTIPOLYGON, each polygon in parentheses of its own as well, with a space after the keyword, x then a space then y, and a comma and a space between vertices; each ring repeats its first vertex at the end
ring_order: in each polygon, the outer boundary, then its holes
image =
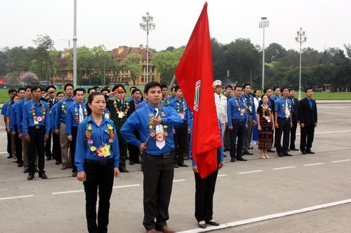
POLYGON ((175 73, 185 101, 194 113, 192 157, 197 163, 201 178, 205 178, 217 169, 217 148, 222 146, 212 86, 213 70, 207 2, 175 73))

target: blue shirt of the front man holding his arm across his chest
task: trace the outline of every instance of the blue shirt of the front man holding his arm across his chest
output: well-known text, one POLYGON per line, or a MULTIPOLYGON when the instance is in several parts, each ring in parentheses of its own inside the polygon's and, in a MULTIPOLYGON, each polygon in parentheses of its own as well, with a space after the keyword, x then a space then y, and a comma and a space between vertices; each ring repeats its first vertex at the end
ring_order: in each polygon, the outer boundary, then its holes
MULTIPOLYGON (((156 140, 150 136, 149 141, 147 141, 146 153, 150 155, 161 155, 164 153, 169 153, 174 149, 174 141, 173 141, 173 127, 178 127, 178 125, 183 123, 182 118, 177 114, 176 110, 171 107, 162 108, 162 112, 166 116, 160 115, 162 118, 162 125, 167 126, 167 136, 166 136, 166 145, 164 148, 159 149, 156 146, 156 140)), ((123 127, 121 128, 121 134, 124 139, 133 144, 134 146, 140 146, 140 144, 146 141, 147 136, 150 133, 150 117, 149 113, 156 115, 156 111, 154 106, 149 104, 145 108, 140 108, 133 112, 133 114, 126 120, 123 127), (140 133, 140 140, 135 137, 133 132, 138 130, 140 133)))

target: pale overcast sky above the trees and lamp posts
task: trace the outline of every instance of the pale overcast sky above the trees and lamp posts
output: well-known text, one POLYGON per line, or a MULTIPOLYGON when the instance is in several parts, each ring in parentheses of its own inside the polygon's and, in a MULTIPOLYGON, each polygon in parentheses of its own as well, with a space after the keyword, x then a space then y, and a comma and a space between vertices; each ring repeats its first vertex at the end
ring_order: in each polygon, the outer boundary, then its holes
MULTIPOLYGON (((149 46, 164 50, 186 45, 197 22, 204 0, 77 0, 78 46, 146 45, 146 31, 139 23, 146 11, 154 16, 156 29, 150 31, 149 46)), ((265 29, 265 45, 279 43, 286 49, 299 49, 295 41, 300 27, 306 31, 303 47, 322 51, 343 49, 351 43, 350 0, 208 0, 211 37, 220 43, 250 38, 262 46, 261 17, 270 25, 265 29)), ((48 34, 55 48, 68 47, 73 37, 74 0, 1 0, 0 48, 34 46, 38 34, 48 34)))

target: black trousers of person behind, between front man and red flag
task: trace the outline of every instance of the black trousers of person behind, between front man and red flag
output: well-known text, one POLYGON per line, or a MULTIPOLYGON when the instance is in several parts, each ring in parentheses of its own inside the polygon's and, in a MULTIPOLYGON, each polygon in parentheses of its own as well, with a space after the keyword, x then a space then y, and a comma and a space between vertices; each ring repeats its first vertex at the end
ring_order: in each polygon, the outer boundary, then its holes
POLYGON ((187 150, 187 122, 183 122, 176 128, 176 134, 173 135, 174 140, 174 163, 183 164, 185 151, 187 150))

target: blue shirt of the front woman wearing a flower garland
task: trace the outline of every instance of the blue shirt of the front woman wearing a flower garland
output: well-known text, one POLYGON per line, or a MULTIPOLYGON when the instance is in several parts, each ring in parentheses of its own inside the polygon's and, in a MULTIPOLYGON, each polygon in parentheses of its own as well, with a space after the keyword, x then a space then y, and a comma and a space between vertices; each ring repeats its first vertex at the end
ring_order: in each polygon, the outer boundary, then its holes
POLYGON ((102 117, 102 122, 100 126, 96 125, 93 118, 88 116, 88 118, 82 120, 78 127, 77 132, 77 144, 76 144, 76 153, 74 157, 74 164, 77 167, 77 171, 84 171, 84 163, 85 160, 114 160, 114 167, 119 167, 119 146, 116 128, 114 127, 114 122, 110 119, 102 117), (93 140, 93 146, 95 148, 100 148, 100 146, 104 146, 108 143, 110 136, 107 132, 107 126, 113 127, 114 138, 110 147, 110 155, 107 157, 99 157, 95 155, 86 140, 86 131, 88 125, 91 125, 91 139, 93 140))

